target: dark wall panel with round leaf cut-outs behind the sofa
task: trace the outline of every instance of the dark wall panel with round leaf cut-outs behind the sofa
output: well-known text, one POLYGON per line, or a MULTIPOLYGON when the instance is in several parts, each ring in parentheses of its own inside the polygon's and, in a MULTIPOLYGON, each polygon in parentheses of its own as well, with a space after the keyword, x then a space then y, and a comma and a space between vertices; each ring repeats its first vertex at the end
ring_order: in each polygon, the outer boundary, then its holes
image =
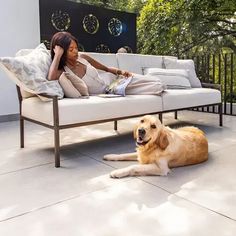
POLYGON ((41 41, 68 31, 81 50, 116 52, 120 47, 136 52, 136 15, 67 0, 40 0, 41 41))

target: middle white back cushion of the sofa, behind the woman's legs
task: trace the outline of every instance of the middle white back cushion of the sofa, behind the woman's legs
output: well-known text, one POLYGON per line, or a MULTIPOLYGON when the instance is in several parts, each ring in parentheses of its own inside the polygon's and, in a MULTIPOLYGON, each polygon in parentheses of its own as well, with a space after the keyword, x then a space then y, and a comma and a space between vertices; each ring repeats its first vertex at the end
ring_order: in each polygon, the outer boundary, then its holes
POLYGON ((142 54, 116 54, 119 68, 136 74, 143 74, 145 68, 163 68, 163 56, 142 54))

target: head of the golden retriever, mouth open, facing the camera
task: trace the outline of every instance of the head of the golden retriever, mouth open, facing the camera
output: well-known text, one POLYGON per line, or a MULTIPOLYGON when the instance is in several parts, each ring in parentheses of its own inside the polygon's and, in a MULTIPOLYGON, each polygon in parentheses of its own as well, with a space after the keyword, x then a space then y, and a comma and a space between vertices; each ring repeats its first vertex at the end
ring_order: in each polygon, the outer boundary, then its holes
POLYGON ((169 145, 167 134, 160 120, 151 115, 143 116, 134 128, 134 138, 138 147, 158 146, 165 149, 169 145))

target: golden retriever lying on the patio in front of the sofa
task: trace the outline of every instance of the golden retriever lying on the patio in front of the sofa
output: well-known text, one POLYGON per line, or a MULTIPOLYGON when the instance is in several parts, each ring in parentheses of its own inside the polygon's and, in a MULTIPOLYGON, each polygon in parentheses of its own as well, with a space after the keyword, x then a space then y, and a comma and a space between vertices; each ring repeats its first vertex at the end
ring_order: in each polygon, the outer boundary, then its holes
POLYGON ((169 168, 198 164, 208 159, 208 142, 200 129, 171 129, 155 116, 141 118, 134 129, 135 153, 108 154, 104 160, 135 161, 138 165, 114 170, 110 176, 121 178, 135 175, 167 175, 169 168))

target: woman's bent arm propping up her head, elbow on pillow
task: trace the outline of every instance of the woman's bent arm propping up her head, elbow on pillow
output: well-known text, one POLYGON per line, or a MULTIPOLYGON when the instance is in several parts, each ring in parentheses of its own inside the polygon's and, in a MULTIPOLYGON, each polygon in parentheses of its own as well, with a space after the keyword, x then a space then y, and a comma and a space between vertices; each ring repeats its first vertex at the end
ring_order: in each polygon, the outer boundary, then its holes
POLYGON ((61 60, 61 56, 63 55, 63 48, 60 46, 55 46, 54 50, 54 58, 52 60, 52 64, 50 65, 49 72, 48 72, 48 80, 58 80, 61 73, 63 72, 62 70, 59 70, 59 63, 61 60))

